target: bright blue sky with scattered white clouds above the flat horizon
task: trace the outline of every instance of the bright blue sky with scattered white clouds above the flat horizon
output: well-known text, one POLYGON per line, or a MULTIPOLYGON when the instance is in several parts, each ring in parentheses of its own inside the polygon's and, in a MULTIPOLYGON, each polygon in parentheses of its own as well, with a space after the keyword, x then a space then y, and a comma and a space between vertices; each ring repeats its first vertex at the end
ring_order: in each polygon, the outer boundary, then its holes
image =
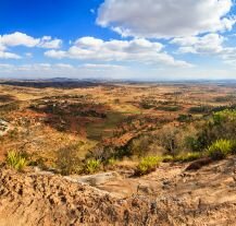
POLYGON ((0 0, 0 78, 236 79, 235 0, 0 0))

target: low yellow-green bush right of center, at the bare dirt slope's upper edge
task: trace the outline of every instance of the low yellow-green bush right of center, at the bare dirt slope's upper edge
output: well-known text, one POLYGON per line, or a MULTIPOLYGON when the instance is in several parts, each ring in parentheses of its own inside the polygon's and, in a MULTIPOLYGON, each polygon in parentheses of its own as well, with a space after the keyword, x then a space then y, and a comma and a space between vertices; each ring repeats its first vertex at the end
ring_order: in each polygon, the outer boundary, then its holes
POLYGON ((154 171, 162 159, 157 156, 148 156, 141 158, 140 163, 137 166, 136 175, 146 175, 151 171, 154 171))

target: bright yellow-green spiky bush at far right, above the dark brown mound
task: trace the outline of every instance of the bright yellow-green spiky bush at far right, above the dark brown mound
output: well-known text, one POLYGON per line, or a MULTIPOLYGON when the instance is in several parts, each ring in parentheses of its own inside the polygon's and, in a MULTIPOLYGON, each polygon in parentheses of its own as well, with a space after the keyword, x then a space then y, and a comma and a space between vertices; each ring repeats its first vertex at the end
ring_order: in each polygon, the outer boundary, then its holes
POLYGON ((207 151, 209 157, 214 160, 223 159, 233 151, 233 142, 231 140, 218 140, 212 143, 207 151))

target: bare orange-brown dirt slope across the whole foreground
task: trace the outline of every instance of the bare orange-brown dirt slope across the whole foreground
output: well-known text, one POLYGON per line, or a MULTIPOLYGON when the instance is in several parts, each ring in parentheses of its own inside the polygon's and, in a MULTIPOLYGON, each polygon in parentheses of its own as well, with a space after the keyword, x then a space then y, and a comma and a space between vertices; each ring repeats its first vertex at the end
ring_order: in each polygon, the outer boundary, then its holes
POLYGON ((103 190, 60 176, 0 169, 0 226, 236 225, 235 166, 233 158, 190 173, 186 165, 163 165, 142 178, 108 182, 103 190))

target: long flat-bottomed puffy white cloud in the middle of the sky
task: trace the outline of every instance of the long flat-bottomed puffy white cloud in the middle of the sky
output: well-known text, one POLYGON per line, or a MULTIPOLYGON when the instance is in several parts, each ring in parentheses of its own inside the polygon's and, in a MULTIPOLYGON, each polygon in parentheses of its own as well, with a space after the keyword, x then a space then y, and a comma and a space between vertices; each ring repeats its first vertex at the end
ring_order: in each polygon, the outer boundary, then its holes
POLYGON ((175 60, 164 52, 163 45, 144 38, 133 40, 108 40, 95 37, 82 37, 67 50, 49 50, 45 56, 62 59, 71 58, 90 61, 138 61, 142 63, 165 63, 169 66, 190 67, 189 63, 175 60))

